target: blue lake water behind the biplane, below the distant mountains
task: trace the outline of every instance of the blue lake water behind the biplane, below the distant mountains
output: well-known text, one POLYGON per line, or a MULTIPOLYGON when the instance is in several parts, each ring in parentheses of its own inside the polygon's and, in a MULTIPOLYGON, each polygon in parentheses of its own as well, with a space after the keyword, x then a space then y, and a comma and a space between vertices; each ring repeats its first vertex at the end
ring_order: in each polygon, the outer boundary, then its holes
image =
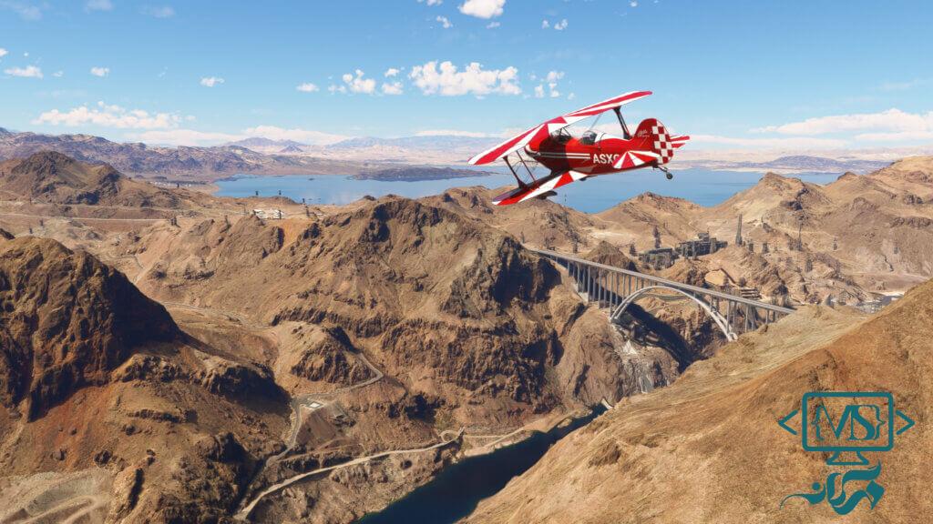
MULTIPOLYGON (((691 200, 703 206, 716 205, 735 193, 758 183, 763 173, 710 171, 686 169, 674 172, 674 180, 664 178, 656 170, 639 170, 619 174, 598 176, 585 182, 575 182, 558 190, 551 200, 563 203, 586 213, 604 211, 622 200, 651 191, 659 195, 691 200)), ((816 184, 827 184, 835 180, 837 173, 809 173, 794 175, 816 184)), ((345 204, 366 195, 383 197, 394 194, 412 199, 438 195, 451 187, 515 186, 511 174, 499 172, 488 176, 425 180, 416 182, 382 182, 355 180, 336 174, 256 176, 237 175, 230 180, 217 182, 221 197, 271 197, 282 192, 292 200, 305 199, 312 204, 345 204), (310 179, 310 180, 309 180, 310 179)))

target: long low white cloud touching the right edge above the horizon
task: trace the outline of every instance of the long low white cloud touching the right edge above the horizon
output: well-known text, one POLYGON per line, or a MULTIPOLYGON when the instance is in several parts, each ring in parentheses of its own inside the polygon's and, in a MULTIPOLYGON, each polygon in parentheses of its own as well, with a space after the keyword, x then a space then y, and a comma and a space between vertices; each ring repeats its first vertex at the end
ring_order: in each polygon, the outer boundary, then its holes
POLYGON ((807 118, 799 122, 790 122, 780 126, 767 126, 752 131, 808 136, 846 131, 933 131, 933 111, 926 114, 914 114, 899 109, 888 109, 880 113, 833 115, 807 118))

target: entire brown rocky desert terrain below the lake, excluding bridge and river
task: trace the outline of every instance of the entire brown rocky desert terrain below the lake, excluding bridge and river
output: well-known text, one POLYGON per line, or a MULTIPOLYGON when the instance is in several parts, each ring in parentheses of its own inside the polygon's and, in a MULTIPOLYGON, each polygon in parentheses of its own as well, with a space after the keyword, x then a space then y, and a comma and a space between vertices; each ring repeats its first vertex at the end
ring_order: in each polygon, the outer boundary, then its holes
MULTIPOLYGON (((518 518, 540 486, 552 503, 536 500, 528 515, 561 521, 575 506, 559 493, 572 497, 591 476, 623 493, 613 468, 628 462, 619 457, 641 453, 642 469, 624 468, 645 472, 680 449, 674 436, 664 436, 669 444, 650 436, 661 431, 651 421, 696 415, 692 398, 752 392, 742 388, 808 355, 822 369, 827 344, 849 355, 845 340, 888 333, 877 324, 883 317, 844 304, 933 276, 931 176, 933 159, 914 158, 827 186, 768 174, 713 208, 644 194, 584 214, 546 200, 496 208, 496 190, 483 187, 346 206, 225 199, 63 154, 7 160, 2 519, 353 522, 466 454, 618 405, 471 517, 518 518), (272 209, 282 217, 267 215, 272 209), (740 221, 743 245, 735 245, 740 221), (637 256, 701 233, 729 245, 670 267, 637 256), (648 298, 631 322, 662 322, 673 333, 645 343, 633 337, 636 325, 606 322, 563 269, 526 247, 696 285, 730 282, 799 311, 727 344, 694 306, 648 298), (642 394, 646 377, 653 391, 642 394), (642 405, 657 414, 624 415, 642 405), (600 436, 630 433, 642 436, 613 436, 618 454, 600 436), (624 438, 634 450, 618 444, 624 438), (580 479, 573 488, 562 480, 568 467, 580 479)), ((921 314, 923 289, 884 318, 921 314)), ((905 340, 902 352, 920 351, 918 340, 905 340)), ((891 377, 922 372, 904 367, 891 377)), ((781 408, 796 392, 786 373, 789 385, 774 393, 781 408)), ((919 427, 923 407, 910 402, 919 427)), ((751 421, 772 414, 747 406, 751 421)), ((709 439, 703 449, 718 442, 709 439)), ((658 471, 687 479, 700 468, 691 460, 658 471)), ((814 464, 795 467, 812 473, 814 464)), ((671 484, 653 486, 645 489, 671 484)), ((677 513, 688 511, 684 502, 658 516, 739 514, 715 513, 738 507, 717 500, 696 509, 705 513, 677 513)), ((618 517, 617 507, 625 506, 607 505, 592 521, 618 517)))

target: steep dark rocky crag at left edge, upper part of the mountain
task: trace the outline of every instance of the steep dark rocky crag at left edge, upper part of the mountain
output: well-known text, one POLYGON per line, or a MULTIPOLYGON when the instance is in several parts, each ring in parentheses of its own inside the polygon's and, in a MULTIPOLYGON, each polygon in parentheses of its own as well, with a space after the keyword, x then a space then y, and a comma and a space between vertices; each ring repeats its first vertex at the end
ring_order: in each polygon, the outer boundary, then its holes
POLYGON ((56 241, 0 241, 0 401, 31 419, 109 380, 134 349, 179 337, 116 269, 56 241))

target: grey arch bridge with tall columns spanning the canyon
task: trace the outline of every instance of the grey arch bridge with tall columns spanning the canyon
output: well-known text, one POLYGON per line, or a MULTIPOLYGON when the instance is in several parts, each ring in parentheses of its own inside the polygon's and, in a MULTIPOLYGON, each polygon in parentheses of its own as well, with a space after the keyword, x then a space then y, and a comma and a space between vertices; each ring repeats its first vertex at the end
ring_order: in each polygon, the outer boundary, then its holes
POLYGON ((642 296, 676 299, 679 295, 695 302, 713 319, 727 339, 734 340, 741 333, 754 331, 759 325, 773 323, 794 311, 744 296, 607 266, 576 256, 540 249, 530 251, 566 269, 587 302, 595 302, 600 308, 609 310, 611 322, 618 323, 622 313, 642 296), (667 295, 659 295, 659 292, 667 295), (671 296, 671 293, 675 295, 671 296))

